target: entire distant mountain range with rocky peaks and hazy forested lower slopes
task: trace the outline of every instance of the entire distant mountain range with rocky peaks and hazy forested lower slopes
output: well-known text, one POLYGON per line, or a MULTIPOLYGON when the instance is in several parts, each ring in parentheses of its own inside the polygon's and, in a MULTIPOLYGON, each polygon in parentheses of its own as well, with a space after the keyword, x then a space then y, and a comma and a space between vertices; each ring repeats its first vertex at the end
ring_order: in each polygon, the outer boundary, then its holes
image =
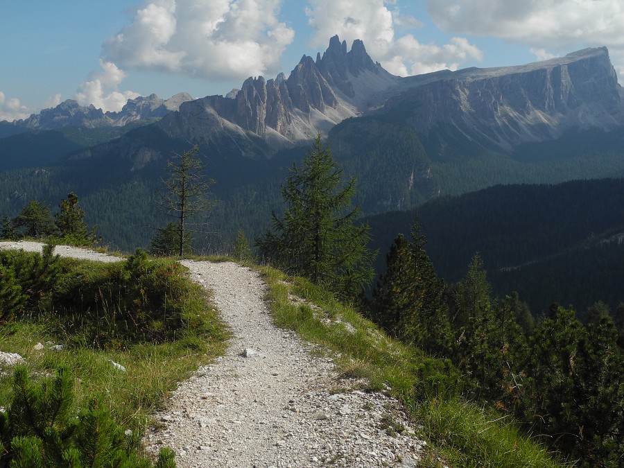
MULTIPOLYGON (((250 236, 266 229, 281 206, 279 184, 318 133, 345 177, 357 177, 363 214, 381 214, 494 184, 620 177, 624 90, 605 48, 401 78, 360 40, 348 50, 334 36, 288 77, 248 78, 226 96, 152 95, 120 112, 65 101, 0 122, 0 171, 17 171, 0 172, 0 214, 32 198, 58 202, 71 189, 98 213, 105 237, 133 250, 150 230, 132 234, 137 200, 116 197, 130 187, 153 193, 171 153, 199 144, 221 200, 211 232, 227 243, 239 227, 250 236), (123 235, 113 216, 120 211, 123 235)), ((149 204, 140 216, 141 226, 159 223, 149 204)))

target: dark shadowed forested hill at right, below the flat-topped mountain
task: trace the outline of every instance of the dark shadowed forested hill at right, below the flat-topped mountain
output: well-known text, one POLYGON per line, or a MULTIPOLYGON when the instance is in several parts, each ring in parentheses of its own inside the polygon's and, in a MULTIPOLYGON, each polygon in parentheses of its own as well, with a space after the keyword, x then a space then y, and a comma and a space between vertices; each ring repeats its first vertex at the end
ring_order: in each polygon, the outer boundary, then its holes
POLYGON ((435 269, 451 283, 478 252, 496 294, 517 291, 535 315, 553 302, 582 314, 598 300, 612 309, 624 301, 622 179, 499 185, 437 198, 417 211, 367 218, 372 246, 385 251, 416 214, 435 269))

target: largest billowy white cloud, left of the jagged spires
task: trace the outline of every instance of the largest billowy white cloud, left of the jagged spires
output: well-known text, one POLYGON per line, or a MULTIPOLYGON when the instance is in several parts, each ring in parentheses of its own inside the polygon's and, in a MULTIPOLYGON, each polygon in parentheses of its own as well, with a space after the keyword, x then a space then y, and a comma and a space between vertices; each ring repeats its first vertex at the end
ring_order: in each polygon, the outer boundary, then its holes
POLYGON ((102 58, 123 69, 245 79, 279 71, 295 32, 278 19, 281 0, 146 1, 102 58))

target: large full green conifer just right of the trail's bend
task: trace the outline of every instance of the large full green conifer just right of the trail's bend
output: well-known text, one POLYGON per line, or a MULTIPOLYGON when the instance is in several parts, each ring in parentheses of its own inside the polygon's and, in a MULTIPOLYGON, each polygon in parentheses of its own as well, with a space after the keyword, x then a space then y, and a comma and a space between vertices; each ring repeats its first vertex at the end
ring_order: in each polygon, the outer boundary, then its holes
POLYGON ((343 183, 342 169, 318 135, 281 188, 283 218, 273 212, 273 230, 257 241, 263 257, 347 297, 360 293, 372 279, 374 252, 367 248, 368 226, 356 224, 355 182, 343 183))

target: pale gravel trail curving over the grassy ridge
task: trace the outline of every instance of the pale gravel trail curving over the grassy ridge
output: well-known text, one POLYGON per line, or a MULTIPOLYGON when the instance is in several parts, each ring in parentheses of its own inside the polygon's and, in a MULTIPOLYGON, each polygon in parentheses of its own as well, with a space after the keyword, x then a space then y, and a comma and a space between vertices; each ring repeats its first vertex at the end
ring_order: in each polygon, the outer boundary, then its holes
MULTIPOLYGON (((5 244, 0 248, 20 248, 5 244)), ((35 250, 36 243, 19 244, 35 250)), ((233 338, 225 356, 200 367, 164 402, 158 428, 146 435, 149 451, 171 447, 179 468, 417 466, 424 442, 399 403, 383 392, 352 390, 331 359, 312 356, 295 333, 275 327, 257 272, 229 262, 182 264, 214 292, 233 338)))

